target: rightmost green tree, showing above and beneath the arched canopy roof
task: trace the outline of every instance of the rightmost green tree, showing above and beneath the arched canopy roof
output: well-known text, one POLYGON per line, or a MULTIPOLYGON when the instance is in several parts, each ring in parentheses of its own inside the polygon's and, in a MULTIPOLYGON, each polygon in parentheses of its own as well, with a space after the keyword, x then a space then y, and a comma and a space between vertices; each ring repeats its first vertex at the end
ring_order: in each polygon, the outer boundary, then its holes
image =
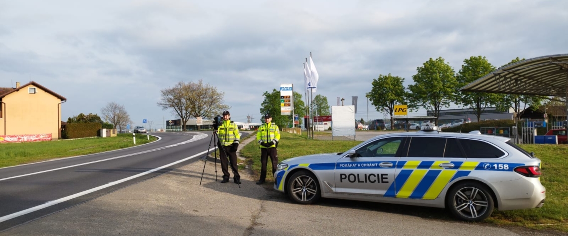
MULTIPOLYGON (((511 62, 503 65, 502 67, 511 65, 513 63, 517 63, 520 61, 524 61, 525 58, 519 59, 519 57, 513 59, 511 62)), ((539 96, 534 95, 516 95, 516 94, 507 94, 504 96, 502 107, 504 109, 512 108, 514 115, 513 120, 516 122, 519 121, 521 115, 525 112, 526 109, 536 110, 538 106, 542 104, 544 99, 539 96)))

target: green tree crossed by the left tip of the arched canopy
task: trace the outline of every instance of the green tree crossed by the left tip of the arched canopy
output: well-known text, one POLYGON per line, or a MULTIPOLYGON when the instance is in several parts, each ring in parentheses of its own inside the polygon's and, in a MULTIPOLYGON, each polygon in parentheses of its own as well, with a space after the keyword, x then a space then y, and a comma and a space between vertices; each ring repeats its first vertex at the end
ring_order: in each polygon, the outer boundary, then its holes
MULTIPOLYGON (((495 66, 491 65, 487 58, 481 57, 481 55, 464 59, 461 70, 456 76, 458 81, 456 91, 493 71, 495 71, 495 66)), ((505 95, 499 93, 458 92, 455 103, 473 109, 477 120, 481 121, 481 113, 488 107, 502 104, 504 97, 505 95)))

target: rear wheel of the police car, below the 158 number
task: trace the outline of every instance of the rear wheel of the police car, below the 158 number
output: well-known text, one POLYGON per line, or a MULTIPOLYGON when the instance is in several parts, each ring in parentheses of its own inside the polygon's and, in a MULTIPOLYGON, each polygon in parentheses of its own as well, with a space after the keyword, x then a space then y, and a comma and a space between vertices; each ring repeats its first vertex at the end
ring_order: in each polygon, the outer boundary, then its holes
POLYGON ((465 182, 450 189, 446 207, 460 220, 482 221, 493 212, 494 202, 485 185, 465 182))

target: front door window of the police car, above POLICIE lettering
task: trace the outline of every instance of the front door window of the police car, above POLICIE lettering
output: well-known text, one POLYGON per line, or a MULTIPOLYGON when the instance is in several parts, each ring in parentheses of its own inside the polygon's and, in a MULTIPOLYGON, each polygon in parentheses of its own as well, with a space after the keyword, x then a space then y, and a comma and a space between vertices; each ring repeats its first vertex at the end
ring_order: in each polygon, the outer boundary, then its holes
POLYGON ((371 141, 357 149, 357 157, 394 157, 402 140, 396 137, 371 141))

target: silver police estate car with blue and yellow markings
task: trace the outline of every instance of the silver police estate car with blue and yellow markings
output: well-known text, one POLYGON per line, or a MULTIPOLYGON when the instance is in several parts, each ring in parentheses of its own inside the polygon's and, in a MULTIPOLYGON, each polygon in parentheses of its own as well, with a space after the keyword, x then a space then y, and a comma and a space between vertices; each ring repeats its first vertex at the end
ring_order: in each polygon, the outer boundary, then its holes
POLYGON ((430 126, 379 135, 344 153, 284 160, 274 188, 299 204, 335 198, 420 205, 481 221, 494 208, 542 207, 540 165, 509 138, 430 126))

